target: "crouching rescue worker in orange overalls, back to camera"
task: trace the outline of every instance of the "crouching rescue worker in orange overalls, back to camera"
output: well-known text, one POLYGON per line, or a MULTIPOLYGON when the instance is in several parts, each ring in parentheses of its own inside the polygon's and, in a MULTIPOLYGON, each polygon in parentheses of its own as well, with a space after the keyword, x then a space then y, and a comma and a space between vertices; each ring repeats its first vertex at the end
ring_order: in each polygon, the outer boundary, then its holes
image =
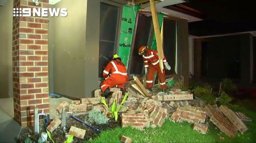
POLYGON ((110 88, 120 88, 124 92, 124 83, 129 81, 125 65, 121 62, 121 58, 115 54, 113 59, 106 65, 103 71, 103 80, 100 84, 102 96, 108 97, 110 95, 110 88))

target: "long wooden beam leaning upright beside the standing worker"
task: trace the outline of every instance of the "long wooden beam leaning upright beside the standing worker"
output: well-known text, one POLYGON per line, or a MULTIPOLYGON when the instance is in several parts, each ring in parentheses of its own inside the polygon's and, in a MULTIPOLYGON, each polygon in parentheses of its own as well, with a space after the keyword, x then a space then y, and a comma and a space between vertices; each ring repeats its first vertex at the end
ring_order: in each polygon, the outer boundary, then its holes
MULTIPOLYGON (((157 10, 156 10, 156 5, 155 5, 154 0, 150 0, 150 6, 151 6, 155 35, 156 35, 158 57, 159 57, 159 60, 161 61, 161 60, 163 60, 163 43, 161 40, 158 17, 157 17, 157 10)), ((163 69, 163 64, 159 64, 159 66, 160 66, 160 69, 163 69)))

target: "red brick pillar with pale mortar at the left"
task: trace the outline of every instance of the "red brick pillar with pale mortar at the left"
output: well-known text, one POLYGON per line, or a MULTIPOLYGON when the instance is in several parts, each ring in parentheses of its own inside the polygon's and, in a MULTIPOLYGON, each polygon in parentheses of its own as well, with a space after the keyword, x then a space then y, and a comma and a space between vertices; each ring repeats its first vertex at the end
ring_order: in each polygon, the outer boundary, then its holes
MULTIPOLYGON (((14 0, 13 8, 48 8, 49 0, 14 0)), ((33 125, 33 110, 49 113, 48 17, 13 16, 14 118, 33 125)))

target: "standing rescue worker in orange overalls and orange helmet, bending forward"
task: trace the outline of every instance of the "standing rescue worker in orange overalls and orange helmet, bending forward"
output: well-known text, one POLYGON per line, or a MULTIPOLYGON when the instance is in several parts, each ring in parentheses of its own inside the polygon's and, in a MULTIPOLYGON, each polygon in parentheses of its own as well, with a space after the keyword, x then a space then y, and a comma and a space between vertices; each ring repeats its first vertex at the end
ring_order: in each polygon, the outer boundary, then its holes
MULTIPOLYGON (((154 73, 157 71, 158 77, 160 79, 161 88, 162 90, 165 90, 166 89, 165 78, 164 78, 165 70, 161 72, 157 50, 148 49, 148 46, 141 46, 139 48, 139 55, 142 55, 142 58, 144 61, 147 89, 152 92, 151 88, 153 87, 154 73)), ((170 66, 166 61, 165 56, 163 58, 163 63, 165 68, 167 70, 170 70, 170 66)))

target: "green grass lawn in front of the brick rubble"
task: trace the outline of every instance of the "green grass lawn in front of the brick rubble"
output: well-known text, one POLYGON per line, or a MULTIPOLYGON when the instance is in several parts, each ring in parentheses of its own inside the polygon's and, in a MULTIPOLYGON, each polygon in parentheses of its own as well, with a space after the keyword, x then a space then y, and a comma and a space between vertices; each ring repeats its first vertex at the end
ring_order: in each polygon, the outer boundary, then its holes
POLYGON ((122 135, 130 137, 132 142, 256 142, 256 113, 249 107, 245 108, 248 102, 250 101, 239 101, 236 110, 245 113, 252 119, 252 122, 246 122, 249 130, 244 134, 238 131, 234 138, 229 138, 212 124, 210 124, 207 134, 204 135, 194 131, 193 124, 186 122, 180 124, 165 120, 162 127, 155 129, 146 128, 141 131, 132 127, 125 127, 102 131, 98 137, 89 142, 120 142, 122 135), (220 139, 220 136, 224 139, 220 139))

